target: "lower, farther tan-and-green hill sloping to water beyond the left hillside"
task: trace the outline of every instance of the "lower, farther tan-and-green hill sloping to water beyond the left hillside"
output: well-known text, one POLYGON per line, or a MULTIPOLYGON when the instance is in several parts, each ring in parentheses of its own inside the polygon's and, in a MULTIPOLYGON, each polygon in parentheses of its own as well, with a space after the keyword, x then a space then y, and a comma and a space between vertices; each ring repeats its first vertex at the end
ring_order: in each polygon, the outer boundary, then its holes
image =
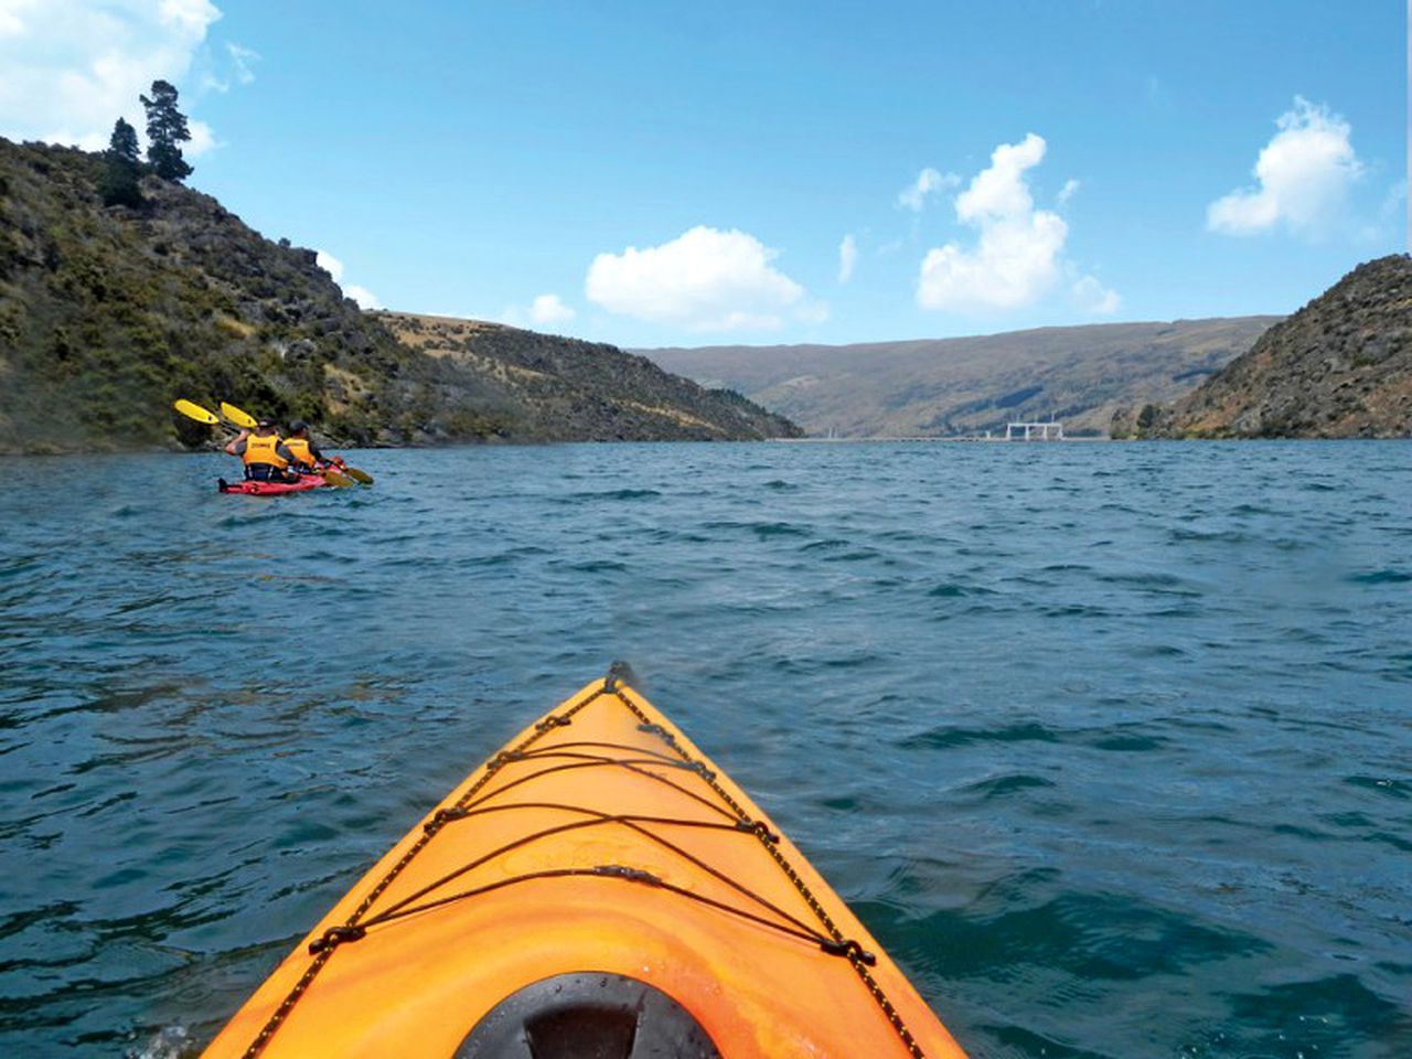
POLYGON ((796 438, 802 431, 730 390, 707 390, 614 346, 498 323, 380 312, 404 346, 472 376, 513 409, 525 441, 796 438))

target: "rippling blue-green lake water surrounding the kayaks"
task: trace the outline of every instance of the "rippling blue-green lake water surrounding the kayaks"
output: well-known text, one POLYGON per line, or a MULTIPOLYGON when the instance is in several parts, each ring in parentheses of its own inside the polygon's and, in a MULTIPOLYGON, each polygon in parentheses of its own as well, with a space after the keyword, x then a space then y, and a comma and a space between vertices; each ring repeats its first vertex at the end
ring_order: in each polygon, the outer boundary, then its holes
POLYGON ((0 460, 0 1053, 198 1051, 626 658, 974 1055, 1412 1055, 1412 443, 354 463, 0 460))

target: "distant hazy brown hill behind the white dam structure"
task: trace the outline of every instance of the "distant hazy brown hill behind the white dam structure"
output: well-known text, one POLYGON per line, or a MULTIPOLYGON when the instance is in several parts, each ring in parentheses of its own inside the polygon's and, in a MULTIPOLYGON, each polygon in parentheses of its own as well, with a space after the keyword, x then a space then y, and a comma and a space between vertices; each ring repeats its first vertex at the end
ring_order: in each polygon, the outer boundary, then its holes
POLYGON ((1042 328, 856 346, 642 350, 727 385, 812 435, 947 436, 1062 419, 1107 436, 1114 412, 1180 397, 1251 347, 1278 316, 1042 328))

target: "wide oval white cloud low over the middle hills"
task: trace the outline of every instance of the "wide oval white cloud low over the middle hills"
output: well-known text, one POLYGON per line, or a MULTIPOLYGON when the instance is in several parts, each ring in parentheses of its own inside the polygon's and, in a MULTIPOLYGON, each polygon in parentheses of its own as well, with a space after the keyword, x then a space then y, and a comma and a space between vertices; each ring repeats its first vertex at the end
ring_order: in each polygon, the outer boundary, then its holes
POLYGON ((777 251, 746 232, 698 226, 669 243, 599 254, 583 292, 611 312, 692 330, 778 328, 818 316, 805 289, 771 263, 777 251))

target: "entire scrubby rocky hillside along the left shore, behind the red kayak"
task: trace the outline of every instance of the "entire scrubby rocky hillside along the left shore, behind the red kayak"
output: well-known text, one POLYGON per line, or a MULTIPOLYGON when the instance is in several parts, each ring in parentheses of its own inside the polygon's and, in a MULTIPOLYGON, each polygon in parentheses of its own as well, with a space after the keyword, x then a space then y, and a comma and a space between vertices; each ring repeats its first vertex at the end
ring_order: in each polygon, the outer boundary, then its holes
POLYGON ((102 172, 102 155, 0 138, 0 452, 206 443, 176 397, 299 417, 336 445, 795 429, 610 346, 508 329, 476 356, 404 345, 312 250, 152 176, 141 206, 103 206, 102 172), (554 378, 513 385, 511 369, 554 378))

